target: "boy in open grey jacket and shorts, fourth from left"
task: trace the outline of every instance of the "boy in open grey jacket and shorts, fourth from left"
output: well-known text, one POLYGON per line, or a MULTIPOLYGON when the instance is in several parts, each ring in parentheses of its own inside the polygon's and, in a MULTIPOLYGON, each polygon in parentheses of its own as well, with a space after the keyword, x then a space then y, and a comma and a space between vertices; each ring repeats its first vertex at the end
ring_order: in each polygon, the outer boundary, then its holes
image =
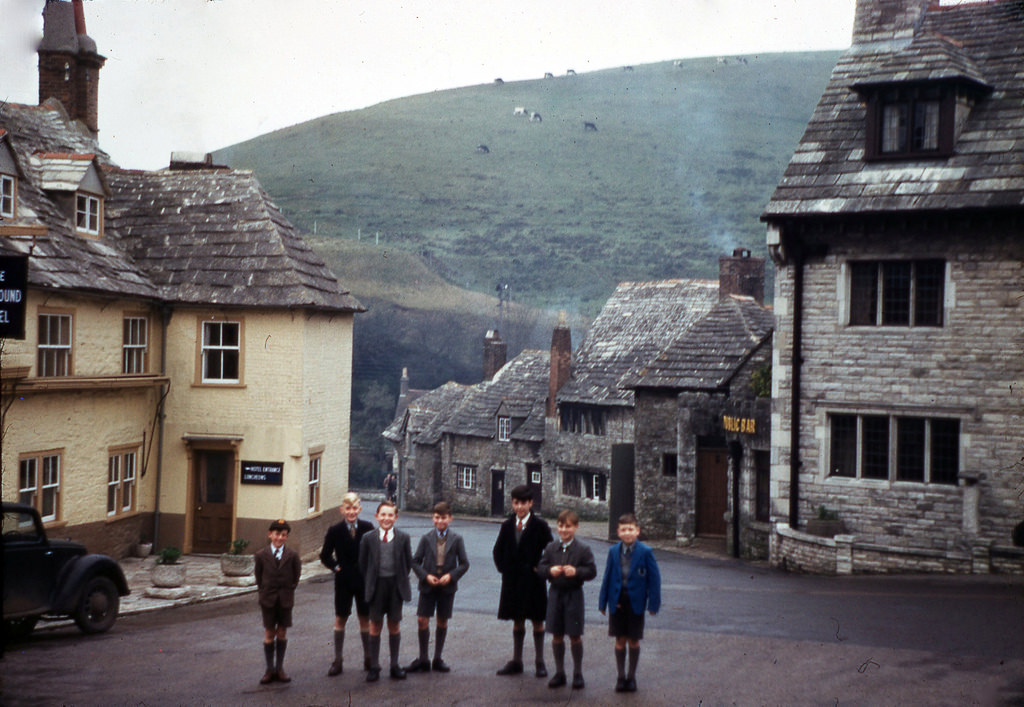
POLYGON ((413 555, 413 572, 420 578, 420 604, 416 610, 419 628, 420 657, 409 667, 409 672, 428 672, 431 667, 437 672, 447 672, 452 668, 441 660, 447 622, 455 606, 455 592, 459 579, 469 570, 469 557, 462 536, 449 529, 452 524, 452 507, 445 501, 434 506, 434 529, 420 538, 420 544, 413 555), (433 663, 427 658, 430 643, 430 617, 437 613, 437 632, 434 636, 433 663))

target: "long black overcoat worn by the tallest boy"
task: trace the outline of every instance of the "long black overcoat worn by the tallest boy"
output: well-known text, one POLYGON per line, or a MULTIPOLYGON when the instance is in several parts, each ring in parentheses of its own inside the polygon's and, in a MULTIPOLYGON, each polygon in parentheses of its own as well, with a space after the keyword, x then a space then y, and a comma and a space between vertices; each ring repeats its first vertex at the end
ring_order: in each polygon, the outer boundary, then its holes
POLYGON ((502 575, 498 618, 544 621, 548 596, 544 578, 537 574, 537 565, 541 562, 544 548, 551 542, 551 528, 537 513, 530 513, 517 543, 515 525, 513 513, 502 523, 495 542, 495 567, 502 575))

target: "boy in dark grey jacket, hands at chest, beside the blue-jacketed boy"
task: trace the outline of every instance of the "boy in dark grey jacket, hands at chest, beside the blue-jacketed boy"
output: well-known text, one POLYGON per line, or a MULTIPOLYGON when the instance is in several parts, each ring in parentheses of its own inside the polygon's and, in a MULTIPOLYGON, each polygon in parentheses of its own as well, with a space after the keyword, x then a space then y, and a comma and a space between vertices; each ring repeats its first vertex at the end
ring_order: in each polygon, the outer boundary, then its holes
POLYGON ((537 572, 551 581, 548 591, 548 633, 552 634, 551 653, 555 674, 549 688, 565 684, 565 635, 572 650, 572 689, 581 690, 583 679, 583 583, 597 577, 594 553, 577 539, 580 516, 571 510, 558 514, 558 540, 544 549, 537 572))

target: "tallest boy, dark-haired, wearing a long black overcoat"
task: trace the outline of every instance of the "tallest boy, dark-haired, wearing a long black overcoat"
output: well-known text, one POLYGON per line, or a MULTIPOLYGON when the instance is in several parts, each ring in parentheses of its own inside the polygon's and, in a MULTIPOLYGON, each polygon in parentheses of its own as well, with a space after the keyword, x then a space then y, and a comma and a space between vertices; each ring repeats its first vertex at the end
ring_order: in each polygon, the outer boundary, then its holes
POLYGON ((502 593, 498 601, 498 618, 512 621, 512 660, 499 675, 522 672, 522 644, 526 636, 526 619, 534 624, 534 648, 537 655, 537 676, 546 677, 544 665, 544 616, 548 609, 544 579, 537 574, 541 553, 551 542, 551 528, 532 512, 534 493, 528 486, 512 489, 513 513, 498 531, 495 542, 495 567, 502 575, 502 593))

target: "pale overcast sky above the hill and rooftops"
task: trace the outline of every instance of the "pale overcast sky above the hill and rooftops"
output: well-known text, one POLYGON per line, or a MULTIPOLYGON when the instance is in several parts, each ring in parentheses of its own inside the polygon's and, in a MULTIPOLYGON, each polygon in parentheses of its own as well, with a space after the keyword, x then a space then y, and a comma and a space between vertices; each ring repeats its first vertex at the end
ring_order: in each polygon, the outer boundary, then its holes
MULTIPOLYGON (((0 0, 0 99, 38 100, 45 0, 0 0)), ((843 49, 855 0, 85 0, 100 143, 165 166, 416 93, 692 56, 843 49)))

